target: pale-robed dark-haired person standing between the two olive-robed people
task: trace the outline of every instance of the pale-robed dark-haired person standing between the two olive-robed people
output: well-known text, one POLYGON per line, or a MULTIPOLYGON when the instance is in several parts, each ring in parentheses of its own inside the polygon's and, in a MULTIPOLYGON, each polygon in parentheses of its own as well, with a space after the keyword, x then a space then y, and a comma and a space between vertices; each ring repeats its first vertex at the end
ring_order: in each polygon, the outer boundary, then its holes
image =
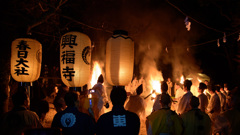
POLYGON ((190 99, 193 96, 192 92, 190 91, 192 86, 192 81, 185 80, 183 84, 183 90, 186 92, 183 97, 180 99, 178 108, 177 108, 177 114, 183 114, 191 109, 190 107, 190 99))

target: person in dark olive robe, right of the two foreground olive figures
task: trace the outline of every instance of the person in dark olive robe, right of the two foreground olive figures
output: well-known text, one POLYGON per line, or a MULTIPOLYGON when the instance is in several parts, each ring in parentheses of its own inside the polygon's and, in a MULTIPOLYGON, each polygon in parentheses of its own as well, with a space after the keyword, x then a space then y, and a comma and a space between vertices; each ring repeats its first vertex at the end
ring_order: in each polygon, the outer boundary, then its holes
POLYGON ((183 113, 183 135, 211 135, 211 119, 198 109, 199 99, 192 96, 190 99, 191 110, 183 113))

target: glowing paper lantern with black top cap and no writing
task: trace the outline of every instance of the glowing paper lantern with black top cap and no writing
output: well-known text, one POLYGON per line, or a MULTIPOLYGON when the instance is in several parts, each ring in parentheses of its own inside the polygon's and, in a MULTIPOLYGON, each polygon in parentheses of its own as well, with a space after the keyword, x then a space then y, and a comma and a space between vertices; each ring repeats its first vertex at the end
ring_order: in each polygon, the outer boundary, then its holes
POLYGON ((125 86, 133 76, 134 43, 128 33, 114 31, 106 46, 106 79, 109 84, 125 86))

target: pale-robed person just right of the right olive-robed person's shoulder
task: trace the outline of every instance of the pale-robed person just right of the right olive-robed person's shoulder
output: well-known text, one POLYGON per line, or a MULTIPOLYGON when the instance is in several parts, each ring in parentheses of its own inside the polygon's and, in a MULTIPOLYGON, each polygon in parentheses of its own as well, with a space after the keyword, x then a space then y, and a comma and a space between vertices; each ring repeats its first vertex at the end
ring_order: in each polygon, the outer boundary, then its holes
POLYGON ((212 121, 214 121, 214 118, 221 112, 221 104, 220 99, 217 93, 215 92, 216 88, 209 87, 208 91, 211 94, 211 98, 208 103, 207 113, 209 117, 212 119, 212 121))

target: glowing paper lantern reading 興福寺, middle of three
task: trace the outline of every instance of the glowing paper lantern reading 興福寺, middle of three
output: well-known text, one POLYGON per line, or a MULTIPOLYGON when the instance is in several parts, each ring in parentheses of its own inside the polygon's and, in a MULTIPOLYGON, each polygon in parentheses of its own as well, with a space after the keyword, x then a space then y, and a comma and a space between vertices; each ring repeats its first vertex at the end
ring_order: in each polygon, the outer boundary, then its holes
POLYGON ((61 79, 69 87, 82 87, 90 79, 91 40, 80 32, 68 32, 61 38, 61 79))

